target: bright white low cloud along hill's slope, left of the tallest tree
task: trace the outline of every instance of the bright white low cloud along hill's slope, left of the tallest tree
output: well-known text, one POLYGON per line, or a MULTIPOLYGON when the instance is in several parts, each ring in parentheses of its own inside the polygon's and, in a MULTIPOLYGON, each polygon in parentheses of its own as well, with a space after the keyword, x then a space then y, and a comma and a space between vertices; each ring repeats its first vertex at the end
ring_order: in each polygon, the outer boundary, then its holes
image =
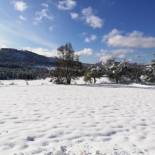
POLYGON ((47 56, 47 57, 57 57, 57 50, 48 50, 45 48, 31 48, 31 47, 26 47, 24 50, 32 51, 33 53, 47 56))

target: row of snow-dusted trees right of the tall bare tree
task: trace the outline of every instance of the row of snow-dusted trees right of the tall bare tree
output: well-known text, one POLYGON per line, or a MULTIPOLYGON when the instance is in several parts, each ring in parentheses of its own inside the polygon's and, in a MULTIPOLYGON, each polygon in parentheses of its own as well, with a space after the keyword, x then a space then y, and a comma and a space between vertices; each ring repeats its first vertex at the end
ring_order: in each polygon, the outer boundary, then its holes
POLYGON ((116 62, 109 60, 105 64, 93 65, 87 68, 84 80, 95 83, 97 78, 106 76, 114 83, 155 84, 155 63, 142 65, 136 63, 116 62))

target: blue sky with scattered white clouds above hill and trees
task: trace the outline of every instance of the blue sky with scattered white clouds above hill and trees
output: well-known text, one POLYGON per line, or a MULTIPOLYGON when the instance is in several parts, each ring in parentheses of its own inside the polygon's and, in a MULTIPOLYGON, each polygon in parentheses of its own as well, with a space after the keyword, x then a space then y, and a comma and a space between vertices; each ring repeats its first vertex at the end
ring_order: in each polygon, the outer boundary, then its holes
POLYGON ((0 48, 55 56, 71 42, 83 62, 149 62, 154 0, 0 0, 0 48))

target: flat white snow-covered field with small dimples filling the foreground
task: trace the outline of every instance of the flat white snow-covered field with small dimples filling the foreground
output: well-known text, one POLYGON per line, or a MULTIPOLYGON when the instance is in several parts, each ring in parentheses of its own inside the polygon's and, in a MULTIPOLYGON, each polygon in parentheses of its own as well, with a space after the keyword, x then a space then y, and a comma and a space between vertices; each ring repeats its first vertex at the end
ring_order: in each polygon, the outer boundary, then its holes
POLYGON ((155 87, 0 82, 0 155, 155 155, 155 87))

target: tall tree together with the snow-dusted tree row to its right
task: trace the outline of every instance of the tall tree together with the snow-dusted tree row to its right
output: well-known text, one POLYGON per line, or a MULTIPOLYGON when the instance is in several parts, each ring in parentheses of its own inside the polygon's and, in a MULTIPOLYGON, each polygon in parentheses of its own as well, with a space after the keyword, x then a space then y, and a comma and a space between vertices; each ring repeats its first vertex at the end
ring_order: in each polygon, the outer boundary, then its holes
POLYGON ((96 83, 97 78, 108 77, 115 83, 155 83, 155 63, 150 65, 117 62, 108 60, 106 63, 83 66, 79 62, 72 45, 66 44, 58 48, 59 61, 52 72, 53 81, 57 84, 70 84, 72 79, 84 76, 84 81, 96 83))

